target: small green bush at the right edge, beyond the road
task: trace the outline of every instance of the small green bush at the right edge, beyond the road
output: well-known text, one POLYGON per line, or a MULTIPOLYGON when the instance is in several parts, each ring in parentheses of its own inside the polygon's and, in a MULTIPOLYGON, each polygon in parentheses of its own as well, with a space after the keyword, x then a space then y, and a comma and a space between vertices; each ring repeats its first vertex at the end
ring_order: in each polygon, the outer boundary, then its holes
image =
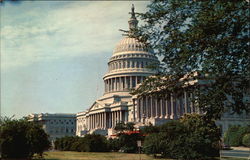
POLYGON ((250 133, 250 126, 231 126, 224 135, 224 143, 229 146, 241 146, 242 138, 250 133))

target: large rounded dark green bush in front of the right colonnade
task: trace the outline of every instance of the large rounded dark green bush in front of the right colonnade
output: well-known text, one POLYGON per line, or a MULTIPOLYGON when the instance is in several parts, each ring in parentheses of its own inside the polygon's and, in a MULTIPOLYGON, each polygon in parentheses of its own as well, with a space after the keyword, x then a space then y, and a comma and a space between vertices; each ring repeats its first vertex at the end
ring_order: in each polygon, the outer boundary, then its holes
POLYGON ((146 154, 162 154, 174 159, 206 159, 219 154, 220 132, 214 121, 203 116, 185 115, 169 121, 145 138, 146 154))

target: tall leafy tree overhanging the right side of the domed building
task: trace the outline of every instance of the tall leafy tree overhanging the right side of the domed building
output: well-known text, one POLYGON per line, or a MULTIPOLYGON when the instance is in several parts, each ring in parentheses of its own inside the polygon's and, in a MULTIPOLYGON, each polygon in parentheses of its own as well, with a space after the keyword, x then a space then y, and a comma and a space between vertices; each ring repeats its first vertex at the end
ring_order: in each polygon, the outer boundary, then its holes
POLYGON ((245 0, 153 1, 139 14, 145 25, 137 37, 163 57, 161 70, 133 94, 182 92, 197 71, 197 78, 210 84, 185 90, 194 94, 193 101, 208 118, 220 118, 226 109, 249 112, 244 99, 250 84, 248 6, 245 0))

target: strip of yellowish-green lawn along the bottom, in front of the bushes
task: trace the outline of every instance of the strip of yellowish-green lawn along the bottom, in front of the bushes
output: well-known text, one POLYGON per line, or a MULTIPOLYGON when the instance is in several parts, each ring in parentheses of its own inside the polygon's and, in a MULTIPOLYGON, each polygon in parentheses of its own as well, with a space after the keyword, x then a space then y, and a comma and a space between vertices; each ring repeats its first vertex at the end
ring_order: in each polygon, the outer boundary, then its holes
MULTIPOLYGON (((117 152, 69 152, 56 151, 46 152, 46 160, 139 160, 139 154, 117 153, 117 152)), ((153 157, 141 154, 141 160, 159 160, 153 157)), ((167 160, 167 159, 161 159, 167 160)))

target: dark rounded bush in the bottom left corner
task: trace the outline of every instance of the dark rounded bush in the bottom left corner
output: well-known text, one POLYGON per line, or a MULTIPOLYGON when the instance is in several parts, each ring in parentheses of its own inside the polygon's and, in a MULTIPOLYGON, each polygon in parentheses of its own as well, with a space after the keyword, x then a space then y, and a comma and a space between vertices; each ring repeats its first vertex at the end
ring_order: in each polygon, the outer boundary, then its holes
POLYGON ((50 147, 42 127, 27 120, 1 120, 0 145, 2 158, 31 158, 42 156, 50 147))

